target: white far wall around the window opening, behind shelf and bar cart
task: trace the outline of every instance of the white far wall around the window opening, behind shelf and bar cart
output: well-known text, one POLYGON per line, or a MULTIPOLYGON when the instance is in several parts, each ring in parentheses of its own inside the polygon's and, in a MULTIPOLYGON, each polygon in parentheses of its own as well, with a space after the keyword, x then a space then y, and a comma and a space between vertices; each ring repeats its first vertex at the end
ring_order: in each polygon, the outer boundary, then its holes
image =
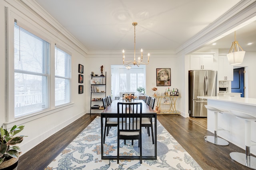
MULTIPOLYGON (((139 51, 138 51, 139 52, 139 51)), ((150 52, 150 51, 149 51, 150 52)), ((127 61, 132 59, 132 55, 126 54, 127 61)), ((122 51, 120 54, 94 54, 86 55, 86 74, 84 76, 84 83, 86 83, 86 112, 90 113, 90 74, 94 71, 95 74, 100 74, 100 66, 103 65, 103 72, 107 72, 106 78, 106 95, 111 94, 111 65, 122 65, 122 51)), ((146 65, 146 94, 152 96, 154 91, 153 87, 158 88, 156 92, 163 93, 166 88, 178 88, 181 98, 184 95, 182 90, 183 83, 180 83, 180 78, 183 77, 183 63, 180 63, 180 59, 176 55, 171 54, 150 54, 149 64, 146 65), (171 68, 171 86, 156 86, 156 68, 171 68)), ((176 109, 179 110, 182 107, 180 104, 181 98, 177 100, 176 109)), ((182 111, 183 112, 183 111, 182 111)))

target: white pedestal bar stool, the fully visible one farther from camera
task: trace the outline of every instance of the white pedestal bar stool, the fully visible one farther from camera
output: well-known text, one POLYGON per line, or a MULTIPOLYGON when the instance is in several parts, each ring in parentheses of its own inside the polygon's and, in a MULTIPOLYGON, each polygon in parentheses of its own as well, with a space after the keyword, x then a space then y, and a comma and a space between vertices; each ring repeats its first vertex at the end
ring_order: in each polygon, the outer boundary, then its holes
POLYGON ((215 145, 227 146, 229 144, 228 141, 218 137, 217 136, 217 131, 224 130, 224 129, 221 129, 221 128, 218 129, 218 113, 228 112, 228 111, 220 110, 220 109, 217 109, 215 107, 208 106, 208 105, 204 105, 204 106, 206 107, 206 109, 211 110, 211 111, 214 112, 214 136, 205 136, 204 140, 206 140, 207 142, 213 143, 215 145))

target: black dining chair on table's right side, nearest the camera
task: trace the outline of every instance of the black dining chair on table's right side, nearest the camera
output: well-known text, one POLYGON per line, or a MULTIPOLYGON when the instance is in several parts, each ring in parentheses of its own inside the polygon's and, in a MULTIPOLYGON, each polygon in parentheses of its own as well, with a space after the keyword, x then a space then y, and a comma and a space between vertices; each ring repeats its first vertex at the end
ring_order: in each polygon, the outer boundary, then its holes
MULTIPOLYGON (((148 96, 149 97, 149 96, 148 96)), ((148 106, 152 109, 154 109, 154 104, 155 104, 155 98, 149 97, 149 102, 148 106)), ((151 128, 151 135, 152 135, 152 143, 154 144, 154 132, 153 132, 153 123, 152 123, 152 117, 142 117, 142 127, 146 127, 148 136, 150 137, 150 130, 149 127, 151 128)))

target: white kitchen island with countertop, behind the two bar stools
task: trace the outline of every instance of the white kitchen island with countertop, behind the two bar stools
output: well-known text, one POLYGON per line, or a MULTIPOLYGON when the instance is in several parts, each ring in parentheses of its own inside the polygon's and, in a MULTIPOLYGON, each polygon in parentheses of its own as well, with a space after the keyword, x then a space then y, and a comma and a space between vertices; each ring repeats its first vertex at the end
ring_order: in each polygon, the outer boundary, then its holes
MULTIPOLYGON (((198 96, 198 98, 207 99, 207 105, 217 107, 226 111, 237 110, 254 115, 256 117, 256 99, 255 98, 236 98, 230 96, 198 96)), ((225 131, 218 131, 218 136, 227 141, 245 148, 244 120, 238 119, 232 113, 218 114, 218 127, 225 131)), ((207 130, 214 133, 214 114, 207 111, 207 130)), ((256 122, 252 122, 251 139, 256 142, 256 122)), ((251 147, 251 153, 256 155, 256 147, 251 147)))

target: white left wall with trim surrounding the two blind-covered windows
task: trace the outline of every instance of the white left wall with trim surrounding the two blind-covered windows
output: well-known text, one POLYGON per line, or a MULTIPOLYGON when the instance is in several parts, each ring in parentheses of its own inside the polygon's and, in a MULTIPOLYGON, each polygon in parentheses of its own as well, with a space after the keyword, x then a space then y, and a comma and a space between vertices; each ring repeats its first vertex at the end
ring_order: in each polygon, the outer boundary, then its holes
MULTIPOLYGON (((30 1, 28 1, 28 4, 29 3, 30 1)), ((38 14, 40 14, 42 17, 45 17, 45 20, 40 18, 37 14, 34 13, 34 11, 30 10, 21 1, 0 1, 0 126, 2 126, 3 123, 4 127, 6 128, 9 128, 14 124, 17 126, 25 125, 21 135, 26 135, 28 137, 25 137, 24 141, 20 144, 22 153, 32 149, 34 146, 50 137, 50 135, 53 135, 86 113, 86 94, 78 94, 78 64, 82 64, 84 66, 86 65, 86 53, 84 52, 85 48, 83 49, 81 44, 76 41, 72 35, 66 32, 66 30, 62 29, 62 26, 58 25, 55 20, 50 19, 50 16, 47 16, 48 14, 44 13, 43 10, 40 10, 39 7, 34 10, 38 12, 38 14), (7 15, 5 15, 5 7, 7 7, 7 15), (72 103, 69 106, 54 108, 54 101, 51 100, 50 103, 52 105, 48 111, 44 111, 43 113, 33 115, 28 118, 14 119, 14 102, 12 100, 12 96, 14 96, 14 85, 13 83, 9 83, 14 82, 14 68, 13 63, 8 63, 9 60, 13 61, 12 53, 14 49, 13 45, 10 44, 13 44, 13 39, 11 37, 13 37, 12 34, 14 30, 14 18, 17 19, 18 22, 22 21, 24 27, 29 28, 29 30, 33 33, 42 36, 42 38, 50 42, 53 48, 54 44, 56 43, 71 53, 72 103), (7 53, 5 52, 6 22, 8 23, 7 53), (58 26, 58 29, 55 29, 53 26, 58 26), (6 95, 6 93, 8 93, 8 95, 6 95), (8 117, 6 115, 8 115, 8 117)), ((54 49, 52 50, 52 54, 54 54, 54 49)), ((54 57, 52 57, 52 59, 54 61, 54 57)), ((51 68, 54 68, 54 66, 51 68)), ((51 75, 51 77, 54 79, 54 74, 51 75)), ((50 85, 50 89, 54 90, 54 84, 50 85)))

